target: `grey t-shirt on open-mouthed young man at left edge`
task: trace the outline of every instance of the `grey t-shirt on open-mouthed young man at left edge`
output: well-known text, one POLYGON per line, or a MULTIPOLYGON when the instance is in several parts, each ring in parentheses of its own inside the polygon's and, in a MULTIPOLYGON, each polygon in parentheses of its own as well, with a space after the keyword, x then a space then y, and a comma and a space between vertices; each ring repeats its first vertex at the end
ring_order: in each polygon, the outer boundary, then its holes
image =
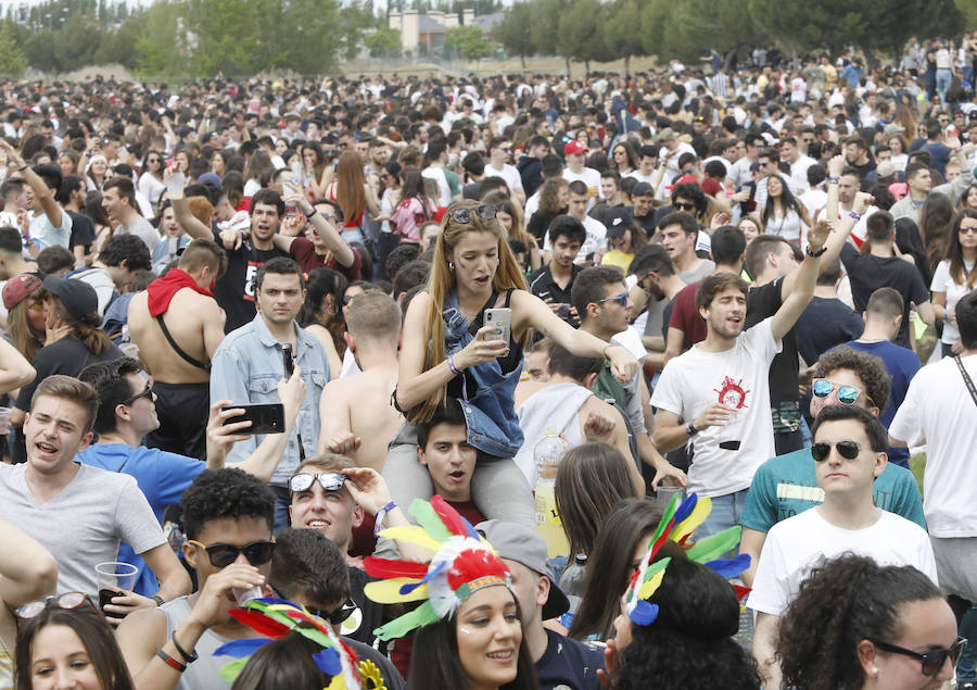
POLYGON ((27 486, 26 464, 0 464, 0 518, 34 537, 58 561, 58 591, 99 591, 94 567, 116 561, 118 542, 136 553, 166 543, 136 479, 78 465, 51 500, 40 503, 27 486))

